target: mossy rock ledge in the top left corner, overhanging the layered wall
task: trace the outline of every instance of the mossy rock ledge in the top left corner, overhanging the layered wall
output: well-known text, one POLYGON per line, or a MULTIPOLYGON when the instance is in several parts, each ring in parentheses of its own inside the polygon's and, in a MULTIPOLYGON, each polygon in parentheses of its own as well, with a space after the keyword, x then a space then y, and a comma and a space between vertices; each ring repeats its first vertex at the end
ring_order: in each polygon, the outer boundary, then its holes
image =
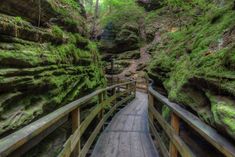
POLYGON ((17 17, 23 17, 34 26, 48 27, 50 24, 60 25, 66 31, 87 34, 84 8, 73 0, 43 0, 18 3, 15 0, 4 0, 0 4, 0 11, 17 17), (40 2, 40 3, 39 3, 40 2), (41 5, 40 18, 38 6, 41 5), (14 6, 14 7, 13 7, 14 6))

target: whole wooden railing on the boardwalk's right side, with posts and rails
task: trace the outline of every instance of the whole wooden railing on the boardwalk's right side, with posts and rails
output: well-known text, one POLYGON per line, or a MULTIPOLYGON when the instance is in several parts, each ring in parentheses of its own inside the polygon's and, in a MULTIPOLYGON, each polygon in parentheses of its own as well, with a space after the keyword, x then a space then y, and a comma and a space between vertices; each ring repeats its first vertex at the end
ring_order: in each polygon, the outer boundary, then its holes
MULTIPOLYGON (((156 139, 154 143, 160 148, 164 157, 194 157, 192 149, 185 143, 180 136, 180 123, 184 122, 189 125, 203 140, 212 145, 216 151, 226 157, 235 157, 235 145, 222 137, 216 130, 203 123, 198 117, 180 107, 180 105, 170 102, 166 97, 155 91, 151 86, 148 88, 149 98, 149 126, 152 135, 156 139), (159 104, 160 103, 160 104, 159 104), (170 123, 163 118, 157 109, 160 105, 165 105, 171 110, 170 123), (165 145, 160 137, 159 126, 161 131, 167 135, 170 140, 170 146, 165 145), (168 148, 168 149, 167 149, 168 148)), ((162 133, 161 133, 162 136, 162 133)), ((200 139, 200 140, 202 140, 200 139)), ((206 148, 203 148, 206 149, 206 148)), ((218 157, 220 155, 216 155, 218 157)), ((200 156, 207 157, 207 156, 200 156)), ((215 156, 214 156, 215 157, 215 156)))

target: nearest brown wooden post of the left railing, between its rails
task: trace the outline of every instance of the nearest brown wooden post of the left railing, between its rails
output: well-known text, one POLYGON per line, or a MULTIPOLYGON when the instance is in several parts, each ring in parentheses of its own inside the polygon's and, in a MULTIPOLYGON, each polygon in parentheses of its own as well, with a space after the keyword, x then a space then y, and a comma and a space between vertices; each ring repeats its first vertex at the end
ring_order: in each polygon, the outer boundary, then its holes
MULTIPOLYGON (((71 113, 71 117, 72 117, 72 133, 74 133, 80 127, 80 109, 77 108, 73 110, 71 113)), ((80 145, 80 140, 79 140, 71 156, 78 157, 80 153, 80 149, 81 149, 81 145, 80 145)))

